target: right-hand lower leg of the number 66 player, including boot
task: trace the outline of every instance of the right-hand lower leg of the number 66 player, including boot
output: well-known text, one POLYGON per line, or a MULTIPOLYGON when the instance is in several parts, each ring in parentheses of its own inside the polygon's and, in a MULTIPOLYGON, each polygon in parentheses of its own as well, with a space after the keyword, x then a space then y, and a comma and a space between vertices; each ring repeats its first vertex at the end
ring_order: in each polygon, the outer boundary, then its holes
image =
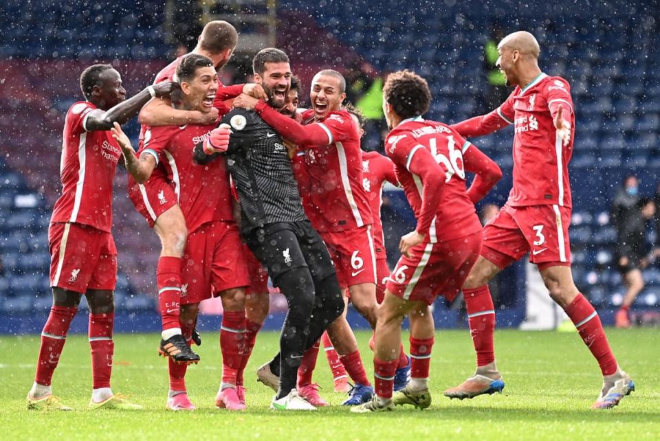
POLYGON ((419 302, 410 311, 410 382, 393 397, 395 405, 413 405, 426 409, 431 405, 428 390, 428 372, 435 327, 428 304, 419 302))

